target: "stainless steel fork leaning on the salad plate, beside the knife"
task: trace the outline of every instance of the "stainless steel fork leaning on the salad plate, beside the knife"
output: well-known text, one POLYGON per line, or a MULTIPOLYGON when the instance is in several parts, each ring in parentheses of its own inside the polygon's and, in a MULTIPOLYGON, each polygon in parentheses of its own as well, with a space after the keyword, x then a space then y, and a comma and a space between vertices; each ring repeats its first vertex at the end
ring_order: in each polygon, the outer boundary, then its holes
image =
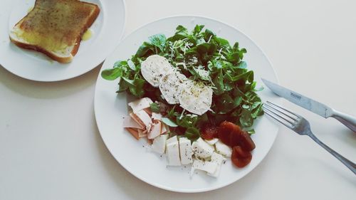
POLYGON ((328 147, 326 144, 318 140, 318 138, 315 137, 313 132, 311 132, 310 124, 307 120, 304 119, 304 117, 269 101, 267 101, 263 105, 263 110, 267 115, 271 116, 273 119, 277 120, 278 122, 281 122, 283 125, 290 128, 290 130, 293 130, 299 135, 308 135, 321 147, 326 149, 330 154, 332 154, 334 157, 340 160, 340 162, 345 164, 345 166, 348 167, 356 175, 356 164, 346 159, 345 157, 342 157, 342 155, 338 154, 333 149, 328 147))

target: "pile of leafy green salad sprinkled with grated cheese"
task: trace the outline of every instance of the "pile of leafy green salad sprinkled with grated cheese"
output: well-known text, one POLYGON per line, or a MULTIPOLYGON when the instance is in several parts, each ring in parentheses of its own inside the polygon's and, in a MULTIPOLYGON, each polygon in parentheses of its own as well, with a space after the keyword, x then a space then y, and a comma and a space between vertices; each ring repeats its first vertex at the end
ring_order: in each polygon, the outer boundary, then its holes
POLYGON ((248 70, 242 60, 244 53, 246 49, 239 48, 239 43, 231 46, 226 39, 204 29, 204 25, 197 25, 192 31, 179 25, 174 36, 150 36, 130 59, 117 61, 113 68, 103 70, 101 75, 106 80, 120 78, 117 93, 126 92, 137 98, 148 97, 157 101, 151 105, 153 112, 164 106, 164 123, 176 127, 174 132, 178 135, 184 134, 194 140, 199 137, 201 126, 206 123, 219 125, 224 120, 234 122, 252 134, 253 120, 263 115, 263 104, 256 94, 261 88, 256 89, 253 71, 248 70), (140 73, 142 61, 154 54, 167 58, 187 78, 211 86, 214 91, 211 110, 198 116, 179 105, 168 105, 159 88, 152 87, 140 73))

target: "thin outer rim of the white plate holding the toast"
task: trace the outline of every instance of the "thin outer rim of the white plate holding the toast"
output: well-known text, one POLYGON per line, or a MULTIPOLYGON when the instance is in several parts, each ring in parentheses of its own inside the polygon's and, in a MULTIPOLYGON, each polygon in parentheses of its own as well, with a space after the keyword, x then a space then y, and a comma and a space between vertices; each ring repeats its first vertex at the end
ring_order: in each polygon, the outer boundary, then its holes
MULTIPOLYGON (((11 16, 11 12, 14 9, 13 7, 16 6, 16 4, 19 4, 20 1, 21 0, 13 1, 10 4, 11 5, 11 9, 9 9, 9 12, 8 13, 6 12, 6 15, 4 16, 7 19, 6 23, 9 23, 9 17, 11 16)), ((108 1, 108 0, 99 0, 99 1, 101 3, 101 1, 108 1)), ((117 45, 113 48, 113 50, 115 50, 117 48, 117 46, 121 43, 122 39, 124 38, 124 33, 125 33, 125 28, 126 28, 126 23, 127 23, 126 1, 125 0, 120 0, 120 1, 122 1, 122 5, 123 5, 124 19, 123 19, 123 24, 122 24, 122 30, 120 31, 120 35, 117 38, 117 40, 118 40, 117 45)), ((110 1, 108 1, 108 2, 110 2, 110 1)), ((38 78, 33 78, 31 76, 28 76, 28 75, 18 74, 16 72, 14 72, 14 70, 12 70, 11 68, 6 67, 6 65, 4 65, 5 61, 1 62, 1 60, 0 60, 0 66, 2 68, 4 68, 5 70, 9 71, 11 74, 16 75, 16 76, 21 77, 21 78, 24 78, 26 80, 33 80, 33 81, 42 82, 42 83, 51 83, 51 82, 69 80, 69 79, 77 78, 77 77, 79 77, 81 75, 84 75, 85 73, 88 73, 91 70, 94 70, 95 68, 98 68, 101 64, 103 64, 105 62, 106 58, 108 58, 108 56, 110 56, 111 53, 112 53, 112 51, 109 51, 108 55, 105 56, 105 58, 103 60, 100 59, 100 61, 93 62, 93 67, 90 67, 90 68, 87 68, 87 69, 85 69, 83 71, 80 71, 80 73, 73 73, 72 75, 68 75, 68 76, 65 76, 63 78, 56 78, 56 79, 54 79, 54 78, 53 79, 38 79, 38 78)), ((49 58, 49 59, 51 59, 51 58, 49 58)), ((56 61, 54 61, 54 62, 56 62, 56 61)), ((75 67, 75 66, 72 66, 72 67, 75 67)))

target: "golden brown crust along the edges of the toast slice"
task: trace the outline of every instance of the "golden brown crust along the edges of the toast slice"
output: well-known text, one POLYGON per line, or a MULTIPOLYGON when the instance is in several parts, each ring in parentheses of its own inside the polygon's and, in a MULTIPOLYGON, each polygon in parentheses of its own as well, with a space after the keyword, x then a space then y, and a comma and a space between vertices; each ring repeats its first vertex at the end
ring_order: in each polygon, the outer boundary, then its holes
MULTIPOLYGON (((39 6, 39 2, 40 1, 41 0, 36 0, 35 7, 39 6)), ((61 1, 61 0, 59 0, 59 1, 61 1)), ((69 1, 70 2, 72 0, 64 0, 64 1, 69 1)), ((43 2, 43 0, 42 0, 42 2, 43 2)), ((41 45, 33 45, 31 43, 17 41, 16 38, 12 38, 11 36, 10 36, 10 40, 16 46, 19 46, 20 48, 26 48, 26 49, 30 49, 30 50, 34 50, 34 51, 38 51, 38 52, 44 53, 44 54, 46 54, 46 56, 52 58, 53 60, 58 61, 59 63, 69 63, 71 60, 73 60, 73 56, 75 56, 75 54, 78 52, 78 48, 80 46, 80 41, 82 39, 83 33, 85 33, 85 31, 88 30, 88 28, 93 24, 93 22, 95 21, 95 19, 98 17, 98 15, 100 13, 99 7, 97 5, 95 5, 95 4, 91 4, 91 3, 83 2, 83 1, 77 1, 77 0, 72 1, 72 2, 75 2, 75 4, 80 2, 80 4, 90 5, 91 11, 90 11, 90 16, 88 16, 88 19, 85 21, 85 23, 78 24, 78 26, 79 25, 81 26, 80 29, 78 29, 77 26, 75 26, 74 32, 73 31, 67 31, 67 33, 65 33, 66 35, 64 36, 64 38, 67 38, 68 41, 73 43, 73 45, 70 45, 71 47, 73 46, 72 51, 70 52, 70 56, 68 56, 68 57, 57 56, 56 53, 53 53, 52 51, 48 51, 48 49, 43 48, 43 46, 41 46, 41 45), (70 33, 73 33, 73 34, 70 34, 70 33), (75 37, 74 40, 71 39, 71 38, 73 38, 73 36, 75 37)), ((82 11, 82 10, 78 9, 78 12, 80 12, 80 11, 82 11)), ((25 27, 24 31, 27 30, 26 28, 30 28, 30 30, 31 30, 31 28, 32 28, 31 24, 29 24, 29 25, 28 24, 24 24, 23 25, 23 21, 26 21, 26 18, 28 18, 29 14, 30 13, 28 13, 25 17, 23 17, 23 19, 21 19, 18 23, 16 23, 16 25, 14 27, 21 26, 21 29, 23 27, 25 27)), ((78 14, 81 14, 81 13, 78 13, 78 14)), ((38 23, 38 21, 36 21, 36 23, 38 23)), ((73 29, 73 26, 72 26, 72 29, 73 29)), ((48 30, 45 30, 45 31, 48 31, 48 30)), ((51 32, 51 31, 53 31, 53 30, 49 30, 48 32, 51 32)))

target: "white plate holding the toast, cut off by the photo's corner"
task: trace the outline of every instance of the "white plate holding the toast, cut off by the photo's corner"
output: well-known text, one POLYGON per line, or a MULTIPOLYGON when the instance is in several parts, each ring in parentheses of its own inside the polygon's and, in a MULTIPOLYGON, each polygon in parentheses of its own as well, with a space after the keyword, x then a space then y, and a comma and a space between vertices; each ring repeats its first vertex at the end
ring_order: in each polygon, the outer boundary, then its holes
POLYGON ((105 60, 120 43, 125 27, 123 0, 83 0, 100 7, 100 14, 90 29, 93 36, 81 41, 71 63, 58 63, 42 53, 15 46, 9 31, 26 16, 35 0, 2 0, 0 6, 0 64, 15 75, 37 81, 57 81, 77 77, 105 60))

